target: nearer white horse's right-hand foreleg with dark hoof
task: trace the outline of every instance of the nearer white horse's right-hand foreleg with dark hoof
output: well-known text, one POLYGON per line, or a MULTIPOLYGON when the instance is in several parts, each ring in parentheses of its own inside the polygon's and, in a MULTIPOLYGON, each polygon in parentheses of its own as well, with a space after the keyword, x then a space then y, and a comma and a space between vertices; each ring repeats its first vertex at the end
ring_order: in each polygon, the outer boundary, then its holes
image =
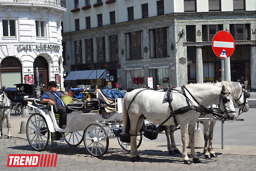
POLYGON ((193 157, 193 161, 194 163, 201 163, 201 161, 199 160, 198 156, 195 153, 195 123, 193 124, 189 124, 189 141, 190 141, 190 155, 191 157, 193 157))

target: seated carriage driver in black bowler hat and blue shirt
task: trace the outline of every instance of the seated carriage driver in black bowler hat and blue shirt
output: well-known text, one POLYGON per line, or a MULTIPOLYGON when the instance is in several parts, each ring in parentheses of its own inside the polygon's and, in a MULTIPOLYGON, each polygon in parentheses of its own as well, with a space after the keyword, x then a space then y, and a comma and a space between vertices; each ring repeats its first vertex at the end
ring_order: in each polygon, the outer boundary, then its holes
POLYGON ((48 92, 45 92, 40 99, 41 103, 48 103, 50 102, 54 106, 54 113, 59 114, 60 118, 60 127, 62 129, 66 128, 67 125, 67 112, 66 107, 61 99, 62 95, 60 92, 57 91, 57 83, 56 81, 50 81, 47 85, 48 92))

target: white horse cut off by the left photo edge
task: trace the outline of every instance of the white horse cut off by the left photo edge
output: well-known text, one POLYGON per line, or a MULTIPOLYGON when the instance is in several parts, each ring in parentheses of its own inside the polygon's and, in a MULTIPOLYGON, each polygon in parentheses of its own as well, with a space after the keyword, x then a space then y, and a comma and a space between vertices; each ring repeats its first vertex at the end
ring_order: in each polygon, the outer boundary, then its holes
POLYGON ((2 139, 3 136, 3 128, 2 128, 2 122, 6 118, 7 121, 7 128, 8 128, 8 135, 7 138, 12 138, 10 135, 10 112, 11 112, 11 103, 5 92, 3 91, 5 87, 2 87, 0 89, 0 139, 2 139))

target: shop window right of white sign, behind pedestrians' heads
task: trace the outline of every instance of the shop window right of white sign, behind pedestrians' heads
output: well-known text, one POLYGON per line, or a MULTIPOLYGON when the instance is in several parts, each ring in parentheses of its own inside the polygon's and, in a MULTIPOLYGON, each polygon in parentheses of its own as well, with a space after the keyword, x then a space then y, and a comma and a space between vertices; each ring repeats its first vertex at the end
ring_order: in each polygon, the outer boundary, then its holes
POLYGON ((170 69, 168 68, 150 68, 150 77, 153 77, 153 86, 156 88, 157 85, 168 88, 170 85, 170 69))

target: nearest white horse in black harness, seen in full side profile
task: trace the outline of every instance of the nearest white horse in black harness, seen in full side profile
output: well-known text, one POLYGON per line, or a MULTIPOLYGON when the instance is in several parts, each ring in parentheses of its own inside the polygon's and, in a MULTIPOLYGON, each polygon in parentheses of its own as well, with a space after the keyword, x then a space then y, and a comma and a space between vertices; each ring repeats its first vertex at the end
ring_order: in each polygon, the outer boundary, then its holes
MULTIPOLYGON (((181 87, 177 89, 181 90, 181 87)), ((187 85, 185 89, 187 90, 173 93, 173 102, 171 103, 173 111, 187 107, 188 104, 198 108, 200 105, 201 109, 205 109, 205 106, 219 104, 220 102, 220 109, 224 111, 225 114, 228 114, 230 118, 235 118, 232 97, 227 94, 228 91, 225 86, 220 88, 213 85, 194 84, 187 85), (190 101, 187 100, 185 94, 190 101)), ((176 124, 180 124, 183 161, 185 164, 191 164, 186 149, 187 132, 189 132, 191 156, 195 163, 201 162, 195 153, 194 147, 195 124, 200 116, 200 112, 188 111, 171 116, 171 108, 169 104, 164 101, 164 92, 144 90, 145 89, 136 89, 131 91, 125 96, 123 103, 123 133, 129 133, 131 137, 131 161, 135 162, 140 160, 136 144, 136 135, 142 127, 144 119, 147 118, 154 124, 163 124, 164 126, 175 125, 176 120, 176 124), (129 121, 130 128, 129 124, 127 124, 126 129, 126 122, 129 121)))

